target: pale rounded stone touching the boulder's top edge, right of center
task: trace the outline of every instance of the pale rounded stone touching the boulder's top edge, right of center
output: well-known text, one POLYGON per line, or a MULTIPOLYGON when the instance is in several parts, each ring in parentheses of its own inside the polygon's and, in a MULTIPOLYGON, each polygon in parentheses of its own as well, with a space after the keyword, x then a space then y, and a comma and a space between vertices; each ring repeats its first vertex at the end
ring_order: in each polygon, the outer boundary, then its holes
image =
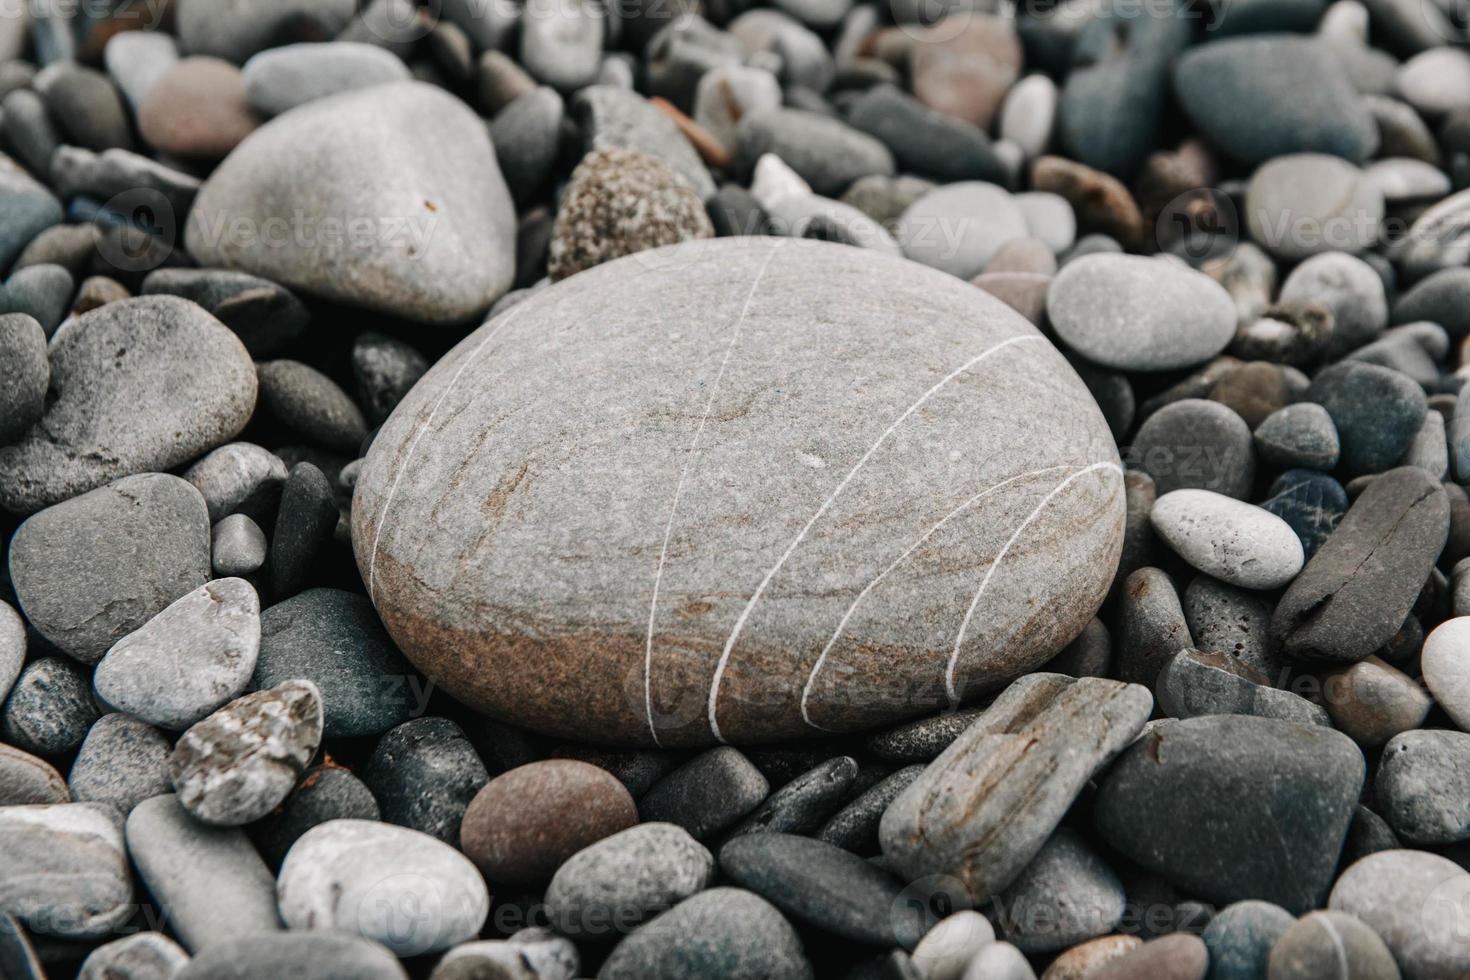
POLYGON ((961 279, 980 275, 1001 245, 1028 235, 1020 206, 1004 188, 983 181, 935 188, 898 219, 904 256, 961 279))

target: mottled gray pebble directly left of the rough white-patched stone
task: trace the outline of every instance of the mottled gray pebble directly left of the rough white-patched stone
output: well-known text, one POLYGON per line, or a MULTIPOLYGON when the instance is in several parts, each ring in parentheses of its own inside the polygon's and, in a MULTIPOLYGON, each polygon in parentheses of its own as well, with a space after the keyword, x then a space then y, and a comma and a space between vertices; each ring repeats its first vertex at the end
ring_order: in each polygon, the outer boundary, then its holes
POLYGON ((112 804, 123 815, 173 789, 168 736, 126 714, 104 714, 87 732, 68 783, 78 802, 112 804))

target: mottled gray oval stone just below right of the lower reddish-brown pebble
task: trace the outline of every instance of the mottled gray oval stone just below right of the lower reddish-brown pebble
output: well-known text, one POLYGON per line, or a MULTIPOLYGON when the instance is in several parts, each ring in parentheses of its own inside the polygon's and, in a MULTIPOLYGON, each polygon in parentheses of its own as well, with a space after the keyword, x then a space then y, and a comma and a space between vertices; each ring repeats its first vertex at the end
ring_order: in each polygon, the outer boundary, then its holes
POLYGON ((559 932, 609 936, 632 932, 704 890, 713 877, 714 858, 686 830, 648 821, 567 858, 545 901, 559 932))

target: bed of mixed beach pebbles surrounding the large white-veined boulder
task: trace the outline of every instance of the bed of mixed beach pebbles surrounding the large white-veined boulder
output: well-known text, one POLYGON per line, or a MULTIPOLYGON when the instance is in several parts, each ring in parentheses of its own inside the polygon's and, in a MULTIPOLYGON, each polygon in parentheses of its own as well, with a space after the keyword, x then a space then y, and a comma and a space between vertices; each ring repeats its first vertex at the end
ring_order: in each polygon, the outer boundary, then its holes
POLYGON ((0 977, 1470 977, 1466 25, 1035 7, 0 4, 0 977), (1107 599, 876 732, 466 708, 354 563, 378 428, 736 235, 1041 331, 1107 599))

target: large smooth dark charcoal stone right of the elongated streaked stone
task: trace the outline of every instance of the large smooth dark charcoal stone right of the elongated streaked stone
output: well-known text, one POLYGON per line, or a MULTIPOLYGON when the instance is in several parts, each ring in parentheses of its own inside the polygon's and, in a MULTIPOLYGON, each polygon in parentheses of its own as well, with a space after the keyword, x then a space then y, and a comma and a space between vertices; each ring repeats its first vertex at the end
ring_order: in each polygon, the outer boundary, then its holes
POLYGON ((1102 777, 1094 818, 1110 846, 1191 895, 1299 914, 1332 884, 1364 771, 1329 727, 1169 718, 1102 777))

